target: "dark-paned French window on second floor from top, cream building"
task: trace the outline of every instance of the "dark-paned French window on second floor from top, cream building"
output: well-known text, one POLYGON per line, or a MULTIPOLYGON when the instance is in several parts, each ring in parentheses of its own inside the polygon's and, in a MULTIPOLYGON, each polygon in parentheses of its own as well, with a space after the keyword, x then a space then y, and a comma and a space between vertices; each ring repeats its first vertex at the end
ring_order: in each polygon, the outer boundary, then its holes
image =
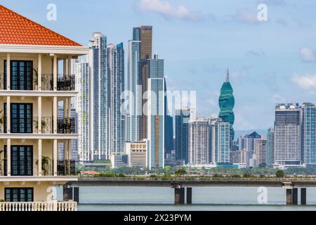
MULTIPOLYGON (((6 103, 4 103, 4 115, 6 115, 6 111, 6 103)), ((6 131, 6 123, 4 124, 4 130, 6 131)), ((32 103, 11 103, 11 133, 33 133, 32 103)))

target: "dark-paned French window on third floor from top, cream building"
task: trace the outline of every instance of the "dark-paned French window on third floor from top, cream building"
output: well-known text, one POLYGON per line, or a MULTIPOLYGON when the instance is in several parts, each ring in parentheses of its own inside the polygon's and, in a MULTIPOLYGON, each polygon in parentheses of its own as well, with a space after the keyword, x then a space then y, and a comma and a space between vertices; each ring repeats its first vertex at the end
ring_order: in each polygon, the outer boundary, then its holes
MULTIPOLYGON (((7 146, 4 146, 4 158, 7 146)), ((7 175, 7 162, 4 174, 7 175)), ((11 146, 11 176, 33 176, 33 146, 11 146)))

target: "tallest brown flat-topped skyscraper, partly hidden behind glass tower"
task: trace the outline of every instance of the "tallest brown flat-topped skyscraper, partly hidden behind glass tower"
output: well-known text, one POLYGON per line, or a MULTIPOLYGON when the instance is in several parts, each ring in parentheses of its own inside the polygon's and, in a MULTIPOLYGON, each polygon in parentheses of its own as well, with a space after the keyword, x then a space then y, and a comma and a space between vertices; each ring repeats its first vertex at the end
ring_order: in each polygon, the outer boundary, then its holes
MULTIPOLYGON (((133 40, 140 41, 140 82, 142 85, 142 96, 148 90, 148 79, 150 78, 149 59, 152 58, 152 26, 141 26, 133 28, 133 40)), ((142 98, 142 109, 146 110, 146 99, 142 98)), ((140 139, 147 139, 147 112, 143 112, 140 120, 140 139)))

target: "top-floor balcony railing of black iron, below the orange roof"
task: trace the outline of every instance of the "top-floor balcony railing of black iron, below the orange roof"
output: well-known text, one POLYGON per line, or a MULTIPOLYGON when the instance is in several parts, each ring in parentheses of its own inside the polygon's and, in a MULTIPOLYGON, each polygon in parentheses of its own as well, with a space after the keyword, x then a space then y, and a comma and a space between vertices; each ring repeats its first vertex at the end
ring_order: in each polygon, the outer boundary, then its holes
MULTIPOLYGON (((0 72, 0 90, 6 90, 4 73, 0 72)), ((12 89, 12 88, 11 88, 12 89)), ((20 89, 21 90, 21 89, 20 89)), ((37 75, 33 75, 33 82, 25 91, 39 91, 37 75)), ((41 75, 41 91, 53 91, 53 74, 41 75)), ((57 91, 75 91, 75 76, 59 74, 57 77, 57 91)))

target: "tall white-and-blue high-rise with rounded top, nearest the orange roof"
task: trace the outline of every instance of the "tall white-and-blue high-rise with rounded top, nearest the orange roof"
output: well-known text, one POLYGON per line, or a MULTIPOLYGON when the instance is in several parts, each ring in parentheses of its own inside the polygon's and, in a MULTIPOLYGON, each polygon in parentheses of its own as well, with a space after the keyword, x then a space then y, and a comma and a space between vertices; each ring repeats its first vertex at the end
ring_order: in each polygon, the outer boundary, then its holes
POLYGON ((107 37, 100 32, 93 33, 89 48, 91 160, 109 160, 110 78, 107 75, 107 37))

